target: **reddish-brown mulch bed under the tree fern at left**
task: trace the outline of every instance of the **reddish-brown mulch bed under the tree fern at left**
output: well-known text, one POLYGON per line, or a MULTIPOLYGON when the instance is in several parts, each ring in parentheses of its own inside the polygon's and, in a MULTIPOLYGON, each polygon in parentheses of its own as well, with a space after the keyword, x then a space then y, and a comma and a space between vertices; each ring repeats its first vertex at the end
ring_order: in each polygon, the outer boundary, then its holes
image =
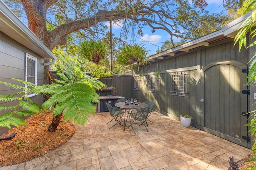
POLYGON ((20 125, 2 136, 16 133, 11 140, 0 141, 0 167, 32 160, 66 143, 75 132, 74 125, 62 120, 55 132, 48 132, 52 116, 52 113, 35 114, 26 119, 26 127, 20 125))

